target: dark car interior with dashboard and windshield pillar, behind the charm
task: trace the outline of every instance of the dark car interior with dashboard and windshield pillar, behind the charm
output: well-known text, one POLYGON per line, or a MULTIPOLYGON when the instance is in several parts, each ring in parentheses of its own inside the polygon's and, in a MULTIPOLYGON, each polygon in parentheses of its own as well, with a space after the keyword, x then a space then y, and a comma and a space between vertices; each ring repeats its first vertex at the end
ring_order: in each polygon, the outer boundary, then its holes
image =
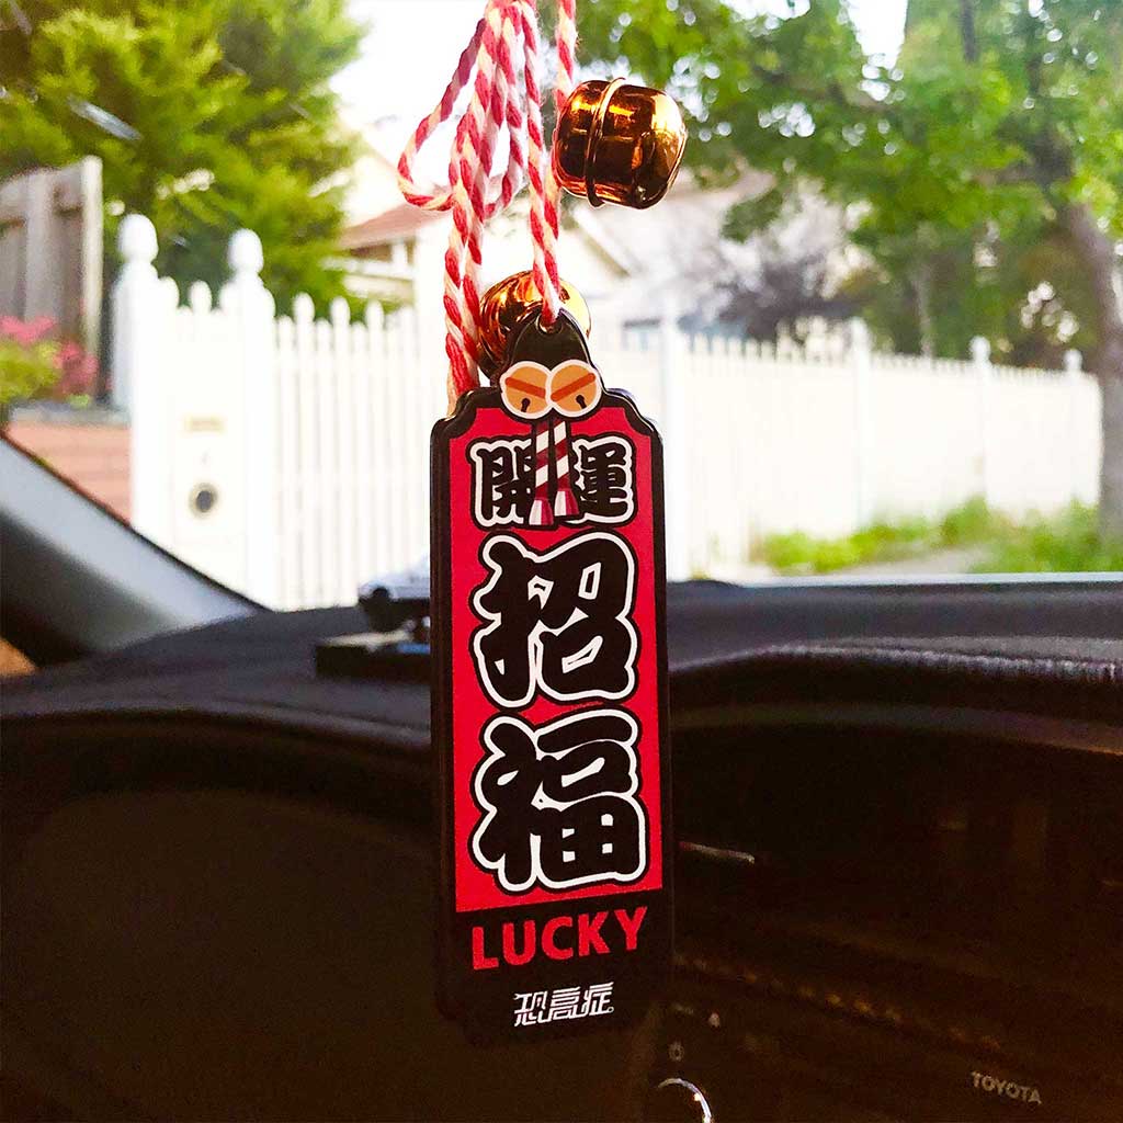
POLYGON ((7 1117, 1123 1112, 1119 575, 672 584, 669 986, 481 1046, 435 999, 426 591, 267 611, 0 467, 38 668, 2 686, 7 1117))

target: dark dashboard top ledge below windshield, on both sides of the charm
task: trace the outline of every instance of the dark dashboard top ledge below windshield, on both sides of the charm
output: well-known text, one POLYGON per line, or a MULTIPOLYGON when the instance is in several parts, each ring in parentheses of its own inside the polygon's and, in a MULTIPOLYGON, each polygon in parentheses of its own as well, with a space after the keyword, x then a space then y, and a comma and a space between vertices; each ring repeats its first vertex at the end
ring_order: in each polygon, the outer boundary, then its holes
MULTIPOLYGON (((1019 707, 1075 713, 1086 702, 1106 711, 1119 702, 1123 581, 690 582, 670 586, 667 617, 673 718, 715 690, 723 672, 745 696, 766 679, 769 690, 780 688, 777 679, 789 681, 801 697, 830 692, 838 674, 848 679, 846 692, 861 679, 862 692, 898 701, 903 678, 920 692, 944 683, 968 694, 980 688, 992 703, 1006 691, 1019 707), (754 670, 745 672, 750 665, 754 670), (914 673, 917 667, 924 675, 914 673), (1020 690, 1026 678, 1033 691, 1020 690)), ((384 725, 394 742, 424 748, 427 685, 385 681, 372 690, 314 675, 318 639, 366 627, 353 608, 261 613, 176 632, 13 683, 4 712, 31 719, 166 705, 337 730, 355 720, 384 725)))

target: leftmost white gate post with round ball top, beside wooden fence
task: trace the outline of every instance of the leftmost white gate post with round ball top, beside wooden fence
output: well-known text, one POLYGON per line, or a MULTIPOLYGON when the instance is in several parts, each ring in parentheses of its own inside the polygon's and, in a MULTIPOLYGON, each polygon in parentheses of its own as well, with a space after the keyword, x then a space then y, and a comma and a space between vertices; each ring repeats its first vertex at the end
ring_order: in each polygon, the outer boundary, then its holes
MULTIPOLYGON (((117 232, 124 264, 113 284, 112 401, 129 418, 129 505, 133 526, 162 546, 172 545, 172 448, 168 393, 159 344, 165 293, 153 262, 156 229, 143 214, 126 214, 117 232)), ((173 303, 174 307, 174 303, 173 303)))

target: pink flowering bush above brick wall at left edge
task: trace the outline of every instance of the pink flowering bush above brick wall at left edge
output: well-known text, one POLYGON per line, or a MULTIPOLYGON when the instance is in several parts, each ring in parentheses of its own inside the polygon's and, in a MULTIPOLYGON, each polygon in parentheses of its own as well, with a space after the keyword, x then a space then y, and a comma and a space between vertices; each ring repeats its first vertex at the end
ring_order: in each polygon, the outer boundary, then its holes
POLYGON ((93 389, 98 360, 75 343, 49 338, 54 328, 49 316, 0 316, 0 408, 29 399, 70 401, 93 389))

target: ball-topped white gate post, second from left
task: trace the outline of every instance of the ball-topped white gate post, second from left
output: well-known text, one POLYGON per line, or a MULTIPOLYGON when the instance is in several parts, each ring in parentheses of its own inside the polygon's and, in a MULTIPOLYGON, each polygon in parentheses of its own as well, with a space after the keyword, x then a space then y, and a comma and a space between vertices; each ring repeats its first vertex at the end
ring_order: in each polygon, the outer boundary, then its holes
POLYGON ((262 240, 236 230, 227 259, 234 276, 219 302, 235 317, 243 389, 246 593, 271 608, 281 599, 281 463, 276 326, 273 296, 262 284, 262 240))

